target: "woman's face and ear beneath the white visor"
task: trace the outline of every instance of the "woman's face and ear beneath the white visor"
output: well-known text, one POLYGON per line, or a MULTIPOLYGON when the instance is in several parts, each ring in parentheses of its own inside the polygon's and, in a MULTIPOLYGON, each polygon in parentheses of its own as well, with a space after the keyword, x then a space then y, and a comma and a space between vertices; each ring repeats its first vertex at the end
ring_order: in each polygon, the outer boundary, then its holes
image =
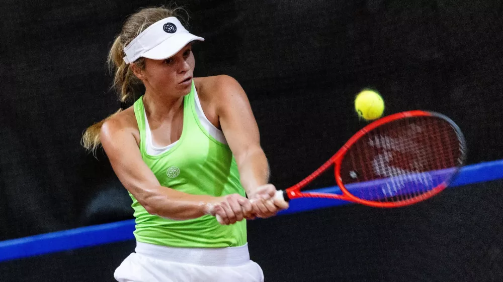
POLYGON ((145 58, 143 69, 131 64, 134 74, 143 81, 147 92, 173 97, 182 97, 190 92, 194 66, 192 44, 186 45, 169 59, 145 58))

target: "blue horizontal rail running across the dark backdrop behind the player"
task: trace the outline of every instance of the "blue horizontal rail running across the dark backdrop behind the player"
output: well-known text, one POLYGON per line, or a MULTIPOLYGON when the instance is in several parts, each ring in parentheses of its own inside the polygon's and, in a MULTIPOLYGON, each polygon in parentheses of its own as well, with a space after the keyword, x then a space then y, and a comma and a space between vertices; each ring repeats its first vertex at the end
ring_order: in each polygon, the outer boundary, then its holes
MULTIPOLYGON (((449 188, 479 182, 503 179, 503 160, 466 166, 449 188)), ((313 190, 324 193, 341 193, 337 186, 313 190)), ((279 215, 349 204, 346 201, 327 199, 294 199, 290 208, 279 215)), ((134 220, 80 227, 70 230, 40 234, 0 242, 0 262, 58 251, 90 247, 134 239, 134 220)))

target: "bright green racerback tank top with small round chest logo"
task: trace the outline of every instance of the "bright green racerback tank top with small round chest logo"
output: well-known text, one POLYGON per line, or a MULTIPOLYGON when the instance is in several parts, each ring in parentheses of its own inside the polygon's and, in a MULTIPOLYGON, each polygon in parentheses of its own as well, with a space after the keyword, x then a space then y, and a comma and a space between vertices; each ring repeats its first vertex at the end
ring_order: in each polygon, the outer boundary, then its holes
MULTIPOLYGON (((140 152, 161 186, 195 195, 245 195, 237 164, 229 146, 218 142, 202 126, 195 108, 195 86, 184 97, 184 120, 180 140, 157 156, 145 149, 143 96, 134 103, 140 130, 140 152)), ((190 220, 172 220, 149 214, 129 193, 135 217, 137 241, 171 247, 216 248, 246 243, 246 221, 220 225, 205 215, 190 220)))

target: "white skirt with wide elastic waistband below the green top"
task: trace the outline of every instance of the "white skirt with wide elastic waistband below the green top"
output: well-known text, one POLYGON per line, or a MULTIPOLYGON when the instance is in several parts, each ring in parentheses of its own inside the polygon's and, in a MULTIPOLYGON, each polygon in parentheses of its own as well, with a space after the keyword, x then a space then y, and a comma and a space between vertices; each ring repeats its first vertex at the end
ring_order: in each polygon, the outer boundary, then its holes
POLYGON ((263 282, 262 268, 249 259, 248 245, 175 248, 136 242, 115 270, 119 282, 263 282))

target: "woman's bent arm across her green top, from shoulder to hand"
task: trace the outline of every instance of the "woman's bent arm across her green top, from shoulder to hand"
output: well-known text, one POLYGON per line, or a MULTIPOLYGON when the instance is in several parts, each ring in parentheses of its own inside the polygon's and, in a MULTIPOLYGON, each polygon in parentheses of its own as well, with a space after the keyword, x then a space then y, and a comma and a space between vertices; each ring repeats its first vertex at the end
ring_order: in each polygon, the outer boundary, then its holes
POLYGON ((148 213, 176 220, 211 213, 218 214, 226 224, 233 224, 251 214, 253 208, 248 199, 238 194, 223 197, 192 195, 161 186, 141 158, 133 134, 135 127, 127 122, 127 116, 120 115, 105 121, 100 140, 122 185, 148 213))

